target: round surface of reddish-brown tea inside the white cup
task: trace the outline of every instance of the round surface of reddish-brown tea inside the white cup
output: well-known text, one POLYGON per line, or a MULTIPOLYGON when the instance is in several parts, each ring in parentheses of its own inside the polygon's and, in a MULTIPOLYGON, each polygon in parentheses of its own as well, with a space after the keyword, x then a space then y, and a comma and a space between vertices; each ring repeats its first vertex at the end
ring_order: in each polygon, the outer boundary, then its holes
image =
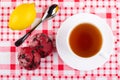
POLYGON ((78 56, 91 57, 101 49, 102 35, 94 25, 82 23, 71 31, 69 44, 72 51, 78 56))

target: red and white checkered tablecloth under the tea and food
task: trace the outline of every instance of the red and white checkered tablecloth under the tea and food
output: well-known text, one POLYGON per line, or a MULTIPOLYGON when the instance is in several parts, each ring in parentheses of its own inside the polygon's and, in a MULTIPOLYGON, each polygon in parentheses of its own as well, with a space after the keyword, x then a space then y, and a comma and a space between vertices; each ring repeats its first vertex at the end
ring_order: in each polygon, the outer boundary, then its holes
MULTIPOLYGON (((29 43, 28 39, 22 46, 29 43)), ((0 0, 0 80, 120 80, 120 0, 0 0), (67 66, 55 49, 52 55, 41 59, 38 69, 27 71, 20 68, 17 60, 18 48, 14 46, 14 42, 32 26, 23 31, 12 31, 8 27, 8 20, 16 6, 31 2, 36 4, 36 20, 41 18, 51 4, 59 4, 57 16, 42 23, 32 33, 47 33, 54 43, 61 23, 71 15, 85 12, 105 19, 115 38, 115 47, 110 59, 97 69, 78 71, 67 66)))

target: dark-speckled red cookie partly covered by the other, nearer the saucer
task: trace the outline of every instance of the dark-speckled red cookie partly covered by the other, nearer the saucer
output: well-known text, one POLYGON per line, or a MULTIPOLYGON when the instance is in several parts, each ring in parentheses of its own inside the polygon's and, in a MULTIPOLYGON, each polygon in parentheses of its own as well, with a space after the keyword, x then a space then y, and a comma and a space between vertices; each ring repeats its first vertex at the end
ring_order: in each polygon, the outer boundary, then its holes
POLYGON ((49 54, 51 54, 53 49, 52 40, 43 33, 35 34, 30 41, 30 46, 35 47, 42 58, 47 57, 49 54))

